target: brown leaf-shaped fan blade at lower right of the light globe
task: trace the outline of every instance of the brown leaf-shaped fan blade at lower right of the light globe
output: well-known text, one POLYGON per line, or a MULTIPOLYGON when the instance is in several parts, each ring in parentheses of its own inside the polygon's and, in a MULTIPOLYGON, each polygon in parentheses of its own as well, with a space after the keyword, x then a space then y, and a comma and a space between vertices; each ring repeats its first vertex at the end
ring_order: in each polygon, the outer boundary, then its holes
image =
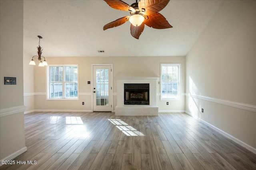
POLYGON ((166 18, 164 18, 164 16, 162 16, 162 14, 158 12, 148 16, 148 20, 144 20, 144 23, 149 27, 152 27, 155 29, 172 28, 172 25, 168 23, 166 18))

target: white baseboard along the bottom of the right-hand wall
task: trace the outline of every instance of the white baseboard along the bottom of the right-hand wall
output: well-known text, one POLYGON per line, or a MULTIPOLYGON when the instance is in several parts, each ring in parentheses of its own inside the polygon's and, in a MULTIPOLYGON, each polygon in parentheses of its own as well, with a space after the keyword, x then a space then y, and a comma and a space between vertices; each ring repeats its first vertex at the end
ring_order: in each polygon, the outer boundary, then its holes
POLYGON ((214 125, 204 121, 203 119, 193 116, 192 113, 185 111, 185 113, 187 113, 188 115, 198 119, 199 121, 202 121, 202 123, 204 123, 205 125, 210 126, 212 129, 214 129, 215 131, 217 131, 218 133, 222 134, 223 136, 227 137, 228 139, 231 139, 232 141, 234 141, 235 143, 238 143, 239 145, 241 145, 242 147, 245 147, 246 149, 250 150, 251 152, 256 154, 256 149, 250 145, 248 145, 247 143, 244 143, 243 141, 240 141, 239 139, 237 139, 236 137, 233 137, 232 135, 222 131, 221 129, 219 129, 218 127, 215 127, 214 125))

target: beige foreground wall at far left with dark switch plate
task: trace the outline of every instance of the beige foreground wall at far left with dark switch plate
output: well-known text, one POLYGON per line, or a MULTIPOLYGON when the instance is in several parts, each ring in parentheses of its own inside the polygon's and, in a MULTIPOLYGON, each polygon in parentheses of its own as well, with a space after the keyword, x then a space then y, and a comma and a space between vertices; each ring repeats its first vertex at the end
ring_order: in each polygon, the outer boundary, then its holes
POLYGON ((25 148, 23 107, 23 1, 0 1, 0 159, 25 148), (16 77, 16 85, 4 85, 4 76, 16 77), (15 112, 15 111, 14 111, 15 112))

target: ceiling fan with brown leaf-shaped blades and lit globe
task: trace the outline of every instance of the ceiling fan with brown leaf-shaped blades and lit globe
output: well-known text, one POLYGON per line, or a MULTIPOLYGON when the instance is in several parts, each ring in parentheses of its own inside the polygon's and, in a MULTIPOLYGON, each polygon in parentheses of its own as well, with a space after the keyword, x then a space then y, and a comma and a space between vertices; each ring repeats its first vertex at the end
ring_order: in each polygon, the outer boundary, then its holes
POLYGON ((155 29, 172 28, 166 18, 158 13, 164 9, 170 0, 136 0, 131 6, 122 0, 104 0, 110 7, 130 12, 131 16, 125 16, 104 25, 103 30, 117 27, 126 21, 131 22, 131 35, 139 39, 145 24, 155 29))

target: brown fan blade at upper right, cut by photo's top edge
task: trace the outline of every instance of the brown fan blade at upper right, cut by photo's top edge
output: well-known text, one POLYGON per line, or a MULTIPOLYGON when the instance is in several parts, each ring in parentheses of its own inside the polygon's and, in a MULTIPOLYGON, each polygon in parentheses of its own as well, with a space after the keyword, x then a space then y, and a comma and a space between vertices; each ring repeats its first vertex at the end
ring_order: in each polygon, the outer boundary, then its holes
POLYGON ((142 12, 144 15, 155 14, 156 12, 161 11, 166 7, 170 0, 140 0, 139 9, 145 9, 145 12, 142 12))

